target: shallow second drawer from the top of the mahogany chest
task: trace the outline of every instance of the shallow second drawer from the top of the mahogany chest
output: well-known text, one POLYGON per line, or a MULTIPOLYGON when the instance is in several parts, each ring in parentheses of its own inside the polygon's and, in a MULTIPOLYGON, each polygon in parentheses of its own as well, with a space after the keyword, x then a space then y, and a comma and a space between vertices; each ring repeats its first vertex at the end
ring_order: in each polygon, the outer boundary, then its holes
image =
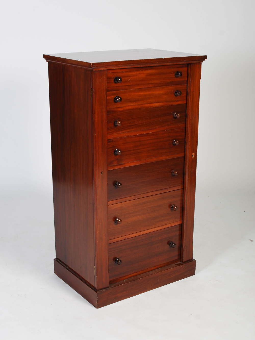
POLYGON ((107 92, 107 109, 124 107, 153 107, 171 104, 186 103, 187 84, 170 85, 132 90, 115 90, 107 92), (180 96, 175 92, 181 91, 180 96), (115 97, 121 97, 120 102, 115 102, 115 97))

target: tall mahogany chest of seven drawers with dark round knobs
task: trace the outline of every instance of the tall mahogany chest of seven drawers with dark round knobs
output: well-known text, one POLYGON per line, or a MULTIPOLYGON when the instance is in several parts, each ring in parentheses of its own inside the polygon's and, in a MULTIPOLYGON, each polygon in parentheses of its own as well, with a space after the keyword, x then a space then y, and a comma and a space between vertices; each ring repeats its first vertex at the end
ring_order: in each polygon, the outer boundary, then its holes
POLYGON ((203 55, 44 55, 54 272, 99 308, 195 274, 203 55))

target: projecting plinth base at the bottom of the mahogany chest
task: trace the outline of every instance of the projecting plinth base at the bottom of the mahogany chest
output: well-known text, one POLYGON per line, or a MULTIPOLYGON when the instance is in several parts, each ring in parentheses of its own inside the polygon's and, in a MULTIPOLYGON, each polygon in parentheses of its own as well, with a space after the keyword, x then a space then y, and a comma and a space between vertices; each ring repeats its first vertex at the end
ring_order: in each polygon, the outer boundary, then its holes
POLYGON ((65 283, 77 291, 96 308, 127 299, 128 297, 147 292, 169 283, 195 275, 195 260, 182 263, 176 262, 143 274, 130 277, 111 284, 109 288, 96 291, 67 267, 63 262, 54 259, 54 273, 65 283))

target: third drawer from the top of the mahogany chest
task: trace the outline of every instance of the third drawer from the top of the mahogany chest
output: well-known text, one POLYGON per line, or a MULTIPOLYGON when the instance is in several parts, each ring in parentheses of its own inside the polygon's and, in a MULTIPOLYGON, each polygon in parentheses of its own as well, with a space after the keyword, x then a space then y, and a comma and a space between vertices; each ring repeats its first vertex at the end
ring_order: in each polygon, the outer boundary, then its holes
POLYGON ((107 130, 108 138, 128 136, 136 132, 153 129, 178 128, 186 123, 186 104, 131 109, 121 111, 108 111, 107 130), (175 115, 174 115, 175 114, 175 115), (115 122, 119 121, 115 125, 115 122))

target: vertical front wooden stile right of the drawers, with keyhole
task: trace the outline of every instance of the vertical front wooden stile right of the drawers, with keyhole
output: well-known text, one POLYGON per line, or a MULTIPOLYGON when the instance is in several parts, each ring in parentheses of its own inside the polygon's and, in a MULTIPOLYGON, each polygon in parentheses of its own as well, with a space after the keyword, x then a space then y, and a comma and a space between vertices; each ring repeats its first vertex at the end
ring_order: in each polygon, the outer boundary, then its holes
POLYGON ((184 209, 182 233, 182 261, 193 257, 193 226, 195 209, 195 183, 198 149, 198 115, 201 63, 188 67, 188 102, 184 167, 184 209))

